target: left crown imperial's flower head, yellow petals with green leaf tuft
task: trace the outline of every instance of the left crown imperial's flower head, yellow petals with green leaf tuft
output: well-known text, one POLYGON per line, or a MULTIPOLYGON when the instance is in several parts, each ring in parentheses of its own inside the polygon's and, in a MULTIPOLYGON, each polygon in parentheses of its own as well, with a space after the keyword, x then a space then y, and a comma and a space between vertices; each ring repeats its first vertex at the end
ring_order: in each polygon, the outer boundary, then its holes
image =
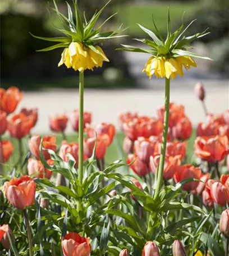
POLYGON ((74 11, 72 11, 70 4, 67 3, 68 17, 59 12, 57 4, 55 0, 53 0, 54 8, 51 9, 56 13, 63 27, 56 29, 64 36, 45 38, 31 34, 35 38, 41 40, 58 42, 58 44, 38 50, 38 52, 47 52, 57 48, 65 48, 58 66, 61 66, 64 63, 67 68, 72 67, 75 71, 79 70, 80 72, 83 72, 86 69, 93 70, 94 67, 102 67, 103 61, 109 62, 109 60, 98 44, 108 39, 121 38, 125 36, 118 35, 125 30, 122 29, 122 25, 117 30, 101 31, 103 25, 106 24, 108 20, 112 19, 112 17, 117 13, 109 16, 108 19, 95 28, 95 24, 97 23, 101 13, 110 2, 111 0, 109 0, 99 11, 96 11, 93 17, 87 21, 85 13, 84 19, 80 16, 77 0, 73 0, 74 11))

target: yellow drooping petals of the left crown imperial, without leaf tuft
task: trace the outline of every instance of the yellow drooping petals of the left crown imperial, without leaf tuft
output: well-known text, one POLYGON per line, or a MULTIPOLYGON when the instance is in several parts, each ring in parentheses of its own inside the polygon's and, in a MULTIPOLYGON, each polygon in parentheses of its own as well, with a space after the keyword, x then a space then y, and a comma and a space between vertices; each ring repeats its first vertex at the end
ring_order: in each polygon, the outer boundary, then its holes
POLYGON ((67 68, 72 67, 75 71, 83 72, 86 69, 93 70, 94 67, 102 67, 103 61, 109 62, 103 50, 97 45, 94 52, 79 42, 72 42, 65 48, 61 55, 58 67, 65 64, 67 68))

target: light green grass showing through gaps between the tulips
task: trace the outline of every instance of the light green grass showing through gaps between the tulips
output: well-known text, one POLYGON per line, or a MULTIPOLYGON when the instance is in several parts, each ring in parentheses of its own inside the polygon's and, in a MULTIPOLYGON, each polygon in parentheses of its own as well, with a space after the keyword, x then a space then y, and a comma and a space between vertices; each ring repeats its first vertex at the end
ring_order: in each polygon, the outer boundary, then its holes
MULTIPOLYGON (((8 139, 8 138, 7 138, 8 139)), ((116 139, 114 139, 114 142, 112 145, 108 148, 107 156, 106 156, 106 164, 112 163, 116 161, 117 159, 124 159, 125 154, 122 152, 122 143, 123 143, 124 135, 119 132, 116 136, 116 139)), ((77 135, 72 134, 67 136, 68 142, 76 141, 77 135)), ((195 131, 193 132, 193 135, 189 139, 187 143, 187 162, 191 163, 191 157, 193 156, 193 144, 195 140, 195 131)), ((62 136, 57 135, 57 144, 60 145, 62 141, 62 136)), ((19 160, 19 148, 18 148, 18 141, 16 139, 12 139, 12 143, 14 145, 15 151, 13 153, 13 156, 11 156, 10 160, 8 161, 8 164, 10 165, 10 168, 13 167, 13 165, 19 160)), ((23 140, 23 148, 24 148, 24 157, 26 157, 26 153, 28 152, 28 139, 24 138, 23 140)), ((5 168, 7 170, 8 167, 5 168)))

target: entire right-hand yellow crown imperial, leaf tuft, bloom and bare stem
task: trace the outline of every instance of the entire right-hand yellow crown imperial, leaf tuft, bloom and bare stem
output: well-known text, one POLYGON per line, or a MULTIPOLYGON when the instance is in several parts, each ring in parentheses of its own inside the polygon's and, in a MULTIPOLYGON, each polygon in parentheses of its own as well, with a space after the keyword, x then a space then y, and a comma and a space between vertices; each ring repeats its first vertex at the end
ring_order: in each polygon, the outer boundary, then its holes
POLYGON ((167 134, 168 134, 168 120, 170 114, 170 80, 175 79, 177 75, 183 76, 183 67, 188 70, 191 67, 196 67, 196 62, 193 58, 203 58, 205 60, 210 60, 207 57, 199 56, 193 52, 187 51, 190 47, 190 43, 194 40, 209 34, 207 30, 197 33, 191 36, 185 36, 186 30, 195 20, 191 21, 190 24, 184 28, 184 24, 178 28, 174 33, 171 32, 171 22, 170 22, 170 11, 168 11, 167 20, 167 37, 164 39, 155 22, 153 24, 156 35, 153 31, 144 28, 140 24, 140 28, 148 34, 150 39, 134 39, 141 43, 144 43, 148 48, 136 48, 131 45, 122 45, 123 51, 129 52, 141 52, 150 54, 149 60, 143 69, 143 72, 149 76, 151 79, 153 75, 155 77, 161 77, 165 79, 165 107, 164 107, 164 126, 163 126, 163 138, 162 138, 162 148, 161 157, 158 166, 158 171, 156 175, 155 193, 154 198, 157 198, 159 191, 161 190, 162 180, 163 180, 163 170, 164 170, 164 159, 166 157, 166 144, 167 144, 167 134))

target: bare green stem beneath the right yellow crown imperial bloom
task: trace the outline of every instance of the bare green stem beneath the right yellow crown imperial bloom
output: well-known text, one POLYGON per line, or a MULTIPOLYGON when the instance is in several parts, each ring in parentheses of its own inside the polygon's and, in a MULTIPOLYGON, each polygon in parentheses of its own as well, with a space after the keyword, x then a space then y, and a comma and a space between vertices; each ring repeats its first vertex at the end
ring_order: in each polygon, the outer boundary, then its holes
POLYGON ((170 79, 166 78, 166 89, 164 94, 164 126, 163 126, 163 136, 162 136, 162 147, 161 147, 161 156, 160 156, 160 162, 159 162, 159 167, 157 172, 157 184, 156 184, 154 198, 157 198, 159 191, 161 189, 162 180, 163 180, 169 115, 170 115, 170 79))

